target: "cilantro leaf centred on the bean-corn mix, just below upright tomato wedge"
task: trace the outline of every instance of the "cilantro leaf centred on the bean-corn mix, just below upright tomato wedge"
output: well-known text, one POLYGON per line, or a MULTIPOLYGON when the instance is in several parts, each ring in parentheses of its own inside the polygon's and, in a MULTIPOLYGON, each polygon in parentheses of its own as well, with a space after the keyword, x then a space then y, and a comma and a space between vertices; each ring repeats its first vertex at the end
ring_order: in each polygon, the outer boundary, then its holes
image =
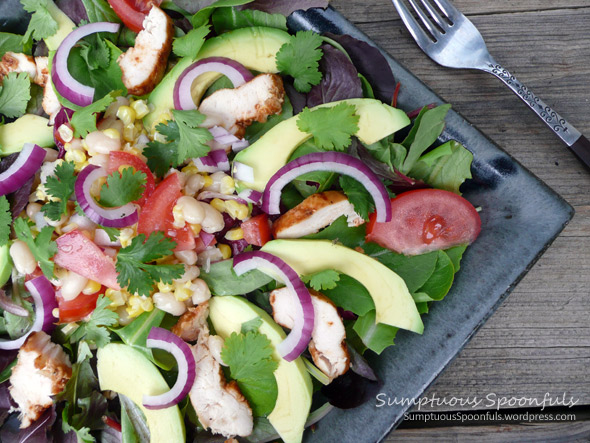
POLYGON ((149 295, 156 283, 172 283, 184 273, 184 265, 151 264, 160 258, 172 255, 176 243, 153 232, 147 237, 139 234, 131 244, 119 251, 115 265, 119 273, 117 281, 134 294, 149 295))

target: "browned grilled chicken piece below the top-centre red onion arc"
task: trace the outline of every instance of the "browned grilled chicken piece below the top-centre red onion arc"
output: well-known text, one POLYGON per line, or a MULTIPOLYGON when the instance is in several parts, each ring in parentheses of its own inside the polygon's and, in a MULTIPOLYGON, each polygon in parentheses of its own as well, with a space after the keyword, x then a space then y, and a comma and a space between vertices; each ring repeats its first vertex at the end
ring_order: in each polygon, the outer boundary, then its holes
POLYGON ((283 80, 276 74, 260 74, 235 89, 220 89, 201 102, 205 127, 222 126, 242 138, 253 122, 265 122, 283 108, 283 80))

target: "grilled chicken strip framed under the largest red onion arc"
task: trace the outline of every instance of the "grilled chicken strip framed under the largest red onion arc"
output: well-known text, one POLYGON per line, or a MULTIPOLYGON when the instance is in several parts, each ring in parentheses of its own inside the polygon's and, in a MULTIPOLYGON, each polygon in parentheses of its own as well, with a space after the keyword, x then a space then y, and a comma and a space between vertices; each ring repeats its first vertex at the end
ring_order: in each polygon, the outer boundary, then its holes
POLYGON ((345 215, 348 226, 360 226, 364 220, 354 212, 352 203, 342 192, 312 194, 283 214, 273 225, 275 238, 299 238, 315 234, 345 215))

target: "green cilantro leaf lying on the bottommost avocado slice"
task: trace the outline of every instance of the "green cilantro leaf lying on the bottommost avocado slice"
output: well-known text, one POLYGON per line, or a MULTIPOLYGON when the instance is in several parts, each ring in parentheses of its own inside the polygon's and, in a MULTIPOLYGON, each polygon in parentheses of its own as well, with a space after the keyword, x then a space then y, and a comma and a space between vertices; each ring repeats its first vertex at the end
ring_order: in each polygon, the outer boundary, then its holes
POLYGON ((229 366, 231 378, 250 403, 255 416, 264 416, 274 409, 278 388, 274 371, 273 347, 263 334, 235 332, 225 340, 221 358, 229 366))

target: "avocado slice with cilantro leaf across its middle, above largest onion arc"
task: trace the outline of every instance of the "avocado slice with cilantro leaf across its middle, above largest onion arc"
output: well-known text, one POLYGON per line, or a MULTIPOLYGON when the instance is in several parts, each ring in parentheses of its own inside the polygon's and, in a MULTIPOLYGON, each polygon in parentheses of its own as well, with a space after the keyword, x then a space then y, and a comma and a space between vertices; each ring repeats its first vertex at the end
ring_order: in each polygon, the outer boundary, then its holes
MULTIPOLYGON (((355 98, 326 103, 316 108, 346 103, 356 107, 359 130, 355 134, 361 142, 370 145, 410 124, 404 111, 381 103, 379 100, 355 98)), ((235 161, 254 170, 254 181, 240 181, 240 187, 263 191, 270 178, 285 166, 291 154, 312 135, 297 127, 298 116, 280 122, 248 148, 240 151, 235 161)))

